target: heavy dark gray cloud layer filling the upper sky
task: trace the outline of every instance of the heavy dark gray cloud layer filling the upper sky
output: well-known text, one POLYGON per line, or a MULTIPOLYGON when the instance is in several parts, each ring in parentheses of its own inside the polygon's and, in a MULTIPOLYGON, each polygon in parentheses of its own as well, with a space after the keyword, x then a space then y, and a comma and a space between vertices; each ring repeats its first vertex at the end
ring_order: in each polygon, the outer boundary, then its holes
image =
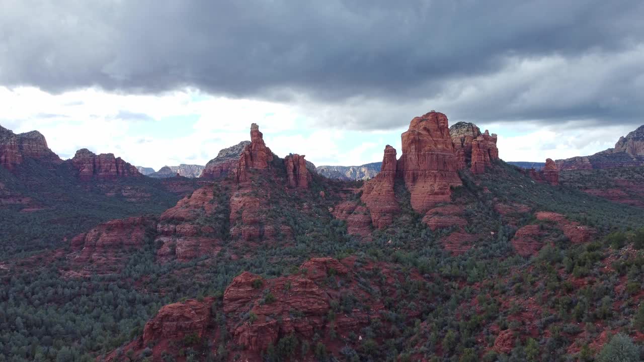
POLYGON ((4 0, 0 84, 308 104, 345 128, 644 122, 644 2, 4 0))

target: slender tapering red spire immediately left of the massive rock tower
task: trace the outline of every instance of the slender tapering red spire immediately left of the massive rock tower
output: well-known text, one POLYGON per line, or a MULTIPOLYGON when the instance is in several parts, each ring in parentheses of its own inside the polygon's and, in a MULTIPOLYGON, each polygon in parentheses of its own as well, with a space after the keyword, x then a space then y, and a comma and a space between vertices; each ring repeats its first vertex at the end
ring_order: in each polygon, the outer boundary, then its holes
MULTIPOLYGON (((398 202, 393 192, 396 177, 396 150, 387 145, 384 148, 383 165, 380 173, 363 186, 362 202, 370 211, 374 227, 381 229, 393 222, 393 215, 399 211, 398 202)), ((363 211, 359 210, 358 213, 363 211)))

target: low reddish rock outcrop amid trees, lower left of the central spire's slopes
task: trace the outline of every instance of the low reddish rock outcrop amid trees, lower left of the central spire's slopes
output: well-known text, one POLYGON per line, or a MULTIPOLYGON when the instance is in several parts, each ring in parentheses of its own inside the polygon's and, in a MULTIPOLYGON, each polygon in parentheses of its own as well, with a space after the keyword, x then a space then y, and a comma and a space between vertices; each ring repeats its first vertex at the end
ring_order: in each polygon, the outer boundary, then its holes
POLYGON ((155 222, 144 217, 100 224, 71 240, 71 262, 77 268, 115 272, 129 257, 129 249, 142 247, 146 231, 154 227, 155 222))

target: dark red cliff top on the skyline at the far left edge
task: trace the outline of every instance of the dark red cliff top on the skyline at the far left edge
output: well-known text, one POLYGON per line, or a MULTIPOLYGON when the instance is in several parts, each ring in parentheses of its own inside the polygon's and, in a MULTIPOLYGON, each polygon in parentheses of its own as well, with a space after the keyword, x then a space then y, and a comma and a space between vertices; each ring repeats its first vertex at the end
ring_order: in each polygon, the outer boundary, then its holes
POLYGON ((51 164, 61 164, 62 160, 47 147, 47 141, 38 131, 16 135, 0 126, 0 165, 14 169, 26 158, 34 158, 51 164))

